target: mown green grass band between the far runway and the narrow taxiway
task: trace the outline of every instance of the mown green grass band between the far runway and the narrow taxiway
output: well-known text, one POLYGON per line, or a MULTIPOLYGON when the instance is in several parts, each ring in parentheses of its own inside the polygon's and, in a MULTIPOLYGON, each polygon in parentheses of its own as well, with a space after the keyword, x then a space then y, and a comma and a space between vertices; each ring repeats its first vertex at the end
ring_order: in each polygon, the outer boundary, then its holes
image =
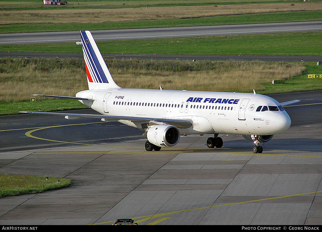
MULTIPOLYGON (((101 53, 320 56, 322 31, 97 41, 101 53)), ((82 53, 74 42, 2 45, 0 51, 82 53)))

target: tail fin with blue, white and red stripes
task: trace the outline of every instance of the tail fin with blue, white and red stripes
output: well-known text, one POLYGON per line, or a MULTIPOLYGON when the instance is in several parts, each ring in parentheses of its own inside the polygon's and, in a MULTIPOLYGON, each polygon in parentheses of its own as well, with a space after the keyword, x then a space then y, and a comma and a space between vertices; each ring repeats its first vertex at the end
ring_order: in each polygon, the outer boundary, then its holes
POLYGON ((80 31, 87 82, 89 89, 120 88, 113 80, 108 67, 90 31, 80 31))

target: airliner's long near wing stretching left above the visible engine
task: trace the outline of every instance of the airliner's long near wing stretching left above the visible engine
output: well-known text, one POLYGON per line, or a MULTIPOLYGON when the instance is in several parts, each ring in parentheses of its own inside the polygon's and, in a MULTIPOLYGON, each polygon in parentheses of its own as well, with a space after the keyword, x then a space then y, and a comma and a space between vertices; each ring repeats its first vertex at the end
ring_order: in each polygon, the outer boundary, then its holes
POLYGON ((33 112, 33 111, 19 111, 19 113, 62 115, 62 116, 65 116, 66 119, 77 119, 77 118, 85 117, 85 118, 100 118, 101 120, 104 120, 104 121, 118 121, 118 120, 128 120, 128 121, 136 121, 136 122, 159 121, 159 122, 166 122, 178 128, 188 128, 188 127, 191 127, 193 123, 193 121, 190 119, 165 119, 165 118, 148 118, 148 117, 131 117, 131 116, 112 116, 112 115, 101 115, 101 114, 33 112))

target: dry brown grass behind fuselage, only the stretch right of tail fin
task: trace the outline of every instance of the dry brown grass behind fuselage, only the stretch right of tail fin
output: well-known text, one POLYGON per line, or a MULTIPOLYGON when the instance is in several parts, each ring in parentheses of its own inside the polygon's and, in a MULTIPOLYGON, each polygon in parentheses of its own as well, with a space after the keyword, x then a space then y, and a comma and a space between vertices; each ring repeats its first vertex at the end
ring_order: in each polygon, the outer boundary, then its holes
MULTIPOLYGON (((225 61, 229 65, 231 61, 225 61)), ((305 69, 301 63, 265 63, 241 62, 241 66, 230 69, 218 68, 204 71, 149 71, 126 70, 114 73, 115 82, 124 88, 150 88, 175 90, 199 90, 222 92, 252 92, 264 90, 263 83, 270 83, 274 79, 288 79, 301 75, 305 69)))

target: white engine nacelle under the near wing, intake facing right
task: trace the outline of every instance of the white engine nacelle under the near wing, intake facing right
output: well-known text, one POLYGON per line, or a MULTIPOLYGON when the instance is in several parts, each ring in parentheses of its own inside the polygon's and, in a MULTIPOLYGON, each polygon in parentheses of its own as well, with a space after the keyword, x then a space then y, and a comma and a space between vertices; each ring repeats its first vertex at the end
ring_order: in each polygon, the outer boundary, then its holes
POLYGON ((171 125, 152 126, 147 131, 147 140, 159 147, 175 146, 180 139, 179 129, 171 125))

